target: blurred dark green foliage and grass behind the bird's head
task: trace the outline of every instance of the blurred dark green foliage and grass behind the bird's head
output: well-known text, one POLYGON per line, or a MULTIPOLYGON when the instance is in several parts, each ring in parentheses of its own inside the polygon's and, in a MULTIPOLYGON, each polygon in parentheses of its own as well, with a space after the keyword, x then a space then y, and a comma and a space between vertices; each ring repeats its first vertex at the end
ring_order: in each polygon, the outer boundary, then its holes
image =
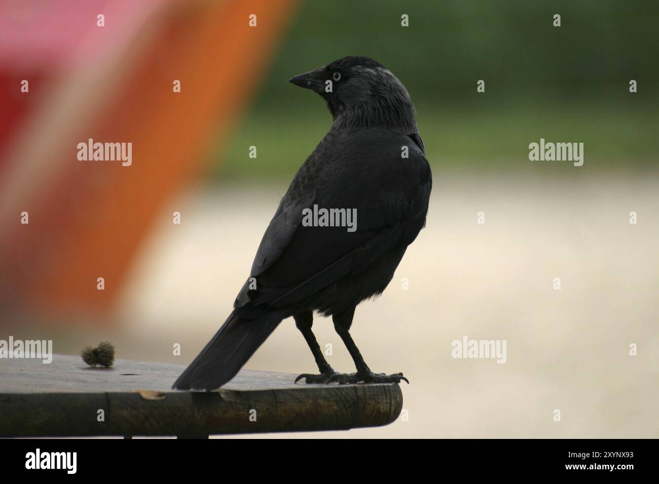
POLYGON ((545 138, 585 144, 580 175, 654 170, 658 24, 656 0, 306 1, 229 143, 213 153, 217 175, 291 178, 331 118, 318 95, 287 80, 346 55, 372 57, 405 84, 436 169, 574 175, 568 162, 529 161, 529 143, 545 138))

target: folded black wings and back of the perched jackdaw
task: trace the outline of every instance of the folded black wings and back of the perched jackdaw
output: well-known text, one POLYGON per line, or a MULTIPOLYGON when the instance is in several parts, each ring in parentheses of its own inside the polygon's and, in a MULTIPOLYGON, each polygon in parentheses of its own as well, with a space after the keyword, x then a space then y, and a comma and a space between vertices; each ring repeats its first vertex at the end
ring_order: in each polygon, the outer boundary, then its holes
POLYGON ((430 167, 410 137, 372 130, 337 138, 322 143, 295 176, 254 259, 256 290, 246 282, 237 308, 295 304, 411 244, 424 226, 430 167), (357 209, 356 230, 304 227, 302 210, 314 204, 357 209))

